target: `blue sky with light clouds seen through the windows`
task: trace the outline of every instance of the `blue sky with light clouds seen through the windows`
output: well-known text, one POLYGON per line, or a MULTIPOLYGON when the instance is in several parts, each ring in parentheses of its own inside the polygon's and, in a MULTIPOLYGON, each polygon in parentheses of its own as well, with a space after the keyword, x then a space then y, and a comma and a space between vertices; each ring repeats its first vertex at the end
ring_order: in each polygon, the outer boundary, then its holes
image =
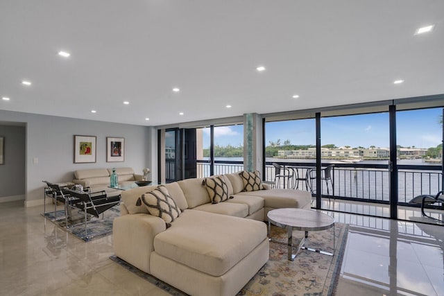
MULTIPOLYGON (((442 114, 441 108, 397 112, 397 144, 416 148, 438 146, 443 134, 439 122, 442 114)), ((215 127, 214 141, 220 146, 241 146, 243 134, 243 125, 215 127)), ((281 143, 289 140, 293 145, 315 145, 315 134, 314 119, 270 122, 266 123, 266 146, 278 139, 281 143)), ((321 145, 388 148, 389 141, 388 112, 321 118, 321 145)), ((210 147, 209 128, 204 129, 203 147, 210 147)))

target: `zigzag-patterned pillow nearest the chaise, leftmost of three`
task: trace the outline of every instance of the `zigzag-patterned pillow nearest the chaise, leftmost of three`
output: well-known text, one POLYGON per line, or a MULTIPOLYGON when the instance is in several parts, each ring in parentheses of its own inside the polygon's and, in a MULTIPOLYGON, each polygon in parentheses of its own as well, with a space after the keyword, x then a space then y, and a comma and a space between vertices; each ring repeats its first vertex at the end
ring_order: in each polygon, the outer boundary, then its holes
POLYGON ((148 212, 162 218, 167 223, 167 227, 170 227, 170 223, 180 215, 179 207, 165 186, 157 186, 153 191, 142 194, 142 202, 148 212))

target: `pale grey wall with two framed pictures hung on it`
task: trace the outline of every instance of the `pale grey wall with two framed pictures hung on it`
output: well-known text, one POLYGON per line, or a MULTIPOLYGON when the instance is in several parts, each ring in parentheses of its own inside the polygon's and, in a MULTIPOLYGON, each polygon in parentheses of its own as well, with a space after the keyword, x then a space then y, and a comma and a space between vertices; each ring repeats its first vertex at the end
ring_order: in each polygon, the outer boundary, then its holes
MULTIPOLYGON (((151 168, 153 128, 0 110, 1 121, 26 123, 26 205, 42 203, 42 180, 71 181, 84 168, 151 168), (96 163, 74 164, 74 135, 96 136, 96 163), (106 162, 106 137, 125 138, 125 161, 106 162), (37 160, 37 163, 34 162, 37 160)), ((157 165, 157 164, 156 164, 157 165)))

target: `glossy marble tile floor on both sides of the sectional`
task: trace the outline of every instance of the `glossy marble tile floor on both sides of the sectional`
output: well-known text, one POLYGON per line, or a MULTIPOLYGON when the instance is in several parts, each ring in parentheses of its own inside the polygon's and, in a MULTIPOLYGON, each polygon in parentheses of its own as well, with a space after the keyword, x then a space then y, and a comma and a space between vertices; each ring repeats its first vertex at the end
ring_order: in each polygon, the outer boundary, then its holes
MULTIPOLYGON (((168 295, 45 220, 43 206, 0 203, 0 295, 168 295)), ((336 295, 444 295, 444 227, 327 212, 350 223, 336 295)))

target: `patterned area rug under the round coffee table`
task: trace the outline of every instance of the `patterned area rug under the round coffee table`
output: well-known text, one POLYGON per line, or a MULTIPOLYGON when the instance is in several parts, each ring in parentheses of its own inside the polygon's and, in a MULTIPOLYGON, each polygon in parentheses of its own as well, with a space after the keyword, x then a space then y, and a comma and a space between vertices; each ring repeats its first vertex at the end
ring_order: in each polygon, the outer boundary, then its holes
MULTIPOLYGON (((336 236, 334 256, 300 250, 296 259, 289 261, 287 259, 287 245, 271 242, 270 259, 237 295, 334 295, 347 242, 348 224, 335 223, 334 230, 333 232, 331 228, 321 232, 309 232, 309 237, 305 241, 305 245, 309 247, 333 252, 334 233, 336 236)), ((298 244, 303 235, 304 232, 293 232, 294 242, 298 244)), ((285 229, 272 225, 271 237, 284 242, 287 241, 287 232, 285 229)), ((171 295, 187 295, 116 256, 111 256, 110 259, 171 295)))

